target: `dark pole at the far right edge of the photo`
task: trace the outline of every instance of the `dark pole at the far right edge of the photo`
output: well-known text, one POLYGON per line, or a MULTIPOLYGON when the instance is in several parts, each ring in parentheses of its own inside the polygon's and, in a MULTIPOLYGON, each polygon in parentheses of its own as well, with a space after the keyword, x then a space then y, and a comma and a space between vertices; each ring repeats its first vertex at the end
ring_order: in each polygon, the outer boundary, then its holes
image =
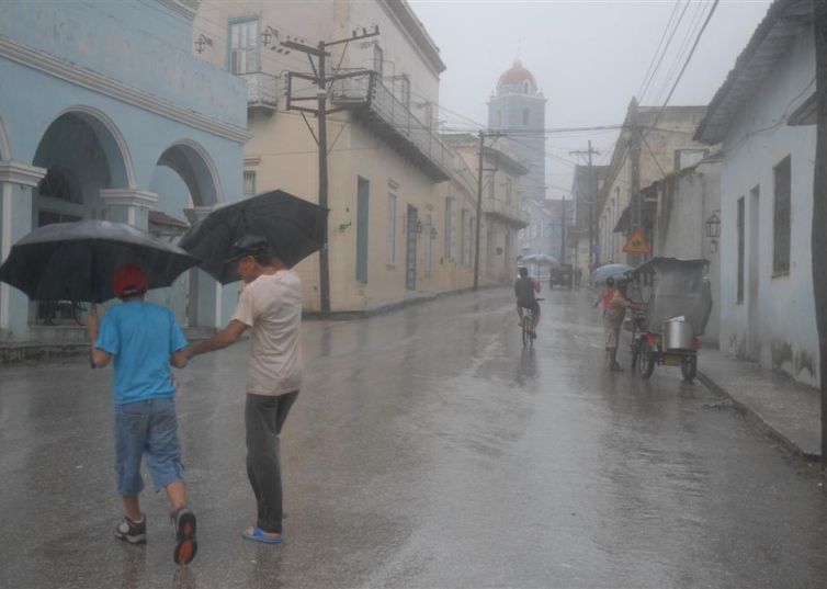
POLYGON ((827 2, 813 0, 816 46, 816 161, 813 182, 813 295, 818 330, 818 372, 822 389, 822 464, 827 465, 827 2))

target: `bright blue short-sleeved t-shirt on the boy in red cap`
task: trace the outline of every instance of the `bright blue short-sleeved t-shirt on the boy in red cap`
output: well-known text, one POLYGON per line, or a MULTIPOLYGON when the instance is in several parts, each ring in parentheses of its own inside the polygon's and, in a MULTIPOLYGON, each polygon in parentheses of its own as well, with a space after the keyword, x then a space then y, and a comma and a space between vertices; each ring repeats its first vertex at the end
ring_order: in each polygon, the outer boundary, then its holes
POLYGON ((116 405, 175 395, 169 360, 186 339, 170 309, 139 301, 115 305, 95 346, 114 356, 116 405))

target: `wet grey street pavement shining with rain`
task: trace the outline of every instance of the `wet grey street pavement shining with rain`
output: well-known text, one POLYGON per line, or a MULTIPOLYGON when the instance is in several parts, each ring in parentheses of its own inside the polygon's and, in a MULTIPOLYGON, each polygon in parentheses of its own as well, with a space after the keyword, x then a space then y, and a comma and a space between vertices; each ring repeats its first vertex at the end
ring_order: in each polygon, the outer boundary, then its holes
POLYGON ((111 375, 0 367, 0 587, 824 587, 817 474, 676 369, 608 372, 587 295, 545 296, 531 351, 508 290, 305 322, 277 547, 240 537, 246 344, 179 371, 189 567, 162 495, 112 537, 111 375))

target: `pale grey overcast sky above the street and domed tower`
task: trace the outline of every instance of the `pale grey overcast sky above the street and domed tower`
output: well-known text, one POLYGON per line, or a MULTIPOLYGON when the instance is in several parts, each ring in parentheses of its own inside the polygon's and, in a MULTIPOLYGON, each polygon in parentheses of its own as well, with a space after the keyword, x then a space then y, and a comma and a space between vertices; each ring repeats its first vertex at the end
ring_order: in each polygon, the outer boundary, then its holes
MULTIPOLYGON (((707 0, 409 2, 448 66, 440 84, 446 109, 441 117, 449 127, 463 128, 474 126, 471 121, 487 123, 487 99, 518 54, 548 100, 546 127, 622 123, 675 10, 672 23, 681 13, 683 19, 643 100, 662 104, 669 73, 677 77, 712 8, 707 0)), ((769 4, 722 0, 669 103, 709 104, 769 4)), ((568 151, 585 149, 591 139, 602 152, 598 160, 608 162, 615 137, 616 132, 550 135, 547 196, 559 197, 571 186, 573 166, 558 158, 574 160, 568 151)))

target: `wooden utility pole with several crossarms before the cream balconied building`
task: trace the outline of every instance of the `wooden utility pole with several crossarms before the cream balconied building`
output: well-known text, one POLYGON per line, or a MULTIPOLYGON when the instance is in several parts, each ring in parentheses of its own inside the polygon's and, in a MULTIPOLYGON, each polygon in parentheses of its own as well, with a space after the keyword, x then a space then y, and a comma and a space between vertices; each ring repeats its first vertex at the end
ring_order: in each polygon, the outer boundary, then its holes
MULTIPOLYGON (((371 70, 361 69, 348 71, 347 73, 338 73, 337 68, 337 71, 335 71, 332 76, 328 76, 326 57, 329 57, 330 53, 327 49, 333 45, 344 44, 344 49, 342 49, 343 58, 344 52, 348 49, 348 43, 374 37, 378 34, 379 27, 375 26, 372 32, 362 29, 362 33, 359 34, 356 31, 353 31, 353 36, 349 38, 330 42, 319 41, 316 47, 306 45, 303 42, 299 43, 297 39, 291 39, 290 37, 287 37, 287 41, 280 43, 283 47, 307 55, 307 58, 310 60, 310 67, 313 68, 313 75, 301 71, 287 72, 287 110, 301 112, 302 117, 305 116, 305 113, 310 113, 316 116, 316 129, 318 134, 314 133, 307 118, 304 118, 304 121, 307 128, 310 129, 310 135, 313 135, 313 138, 316 140, 316 145, 319 148, 319 206, 325 209, 328 208, 327 115, 344 110, 344 107, 327 107, 327 99, 330 95, 332 84, 337 80, 343 80, 345 78, 369 76, 370 82, 367 84, 367 95, 365 100, 370 102, 371 95, 373 94, 373 72, 371 70), (313 60, 314 57, 316 58, 316 63, 313 60), (316 97, 293 97, 293 78, 299 78, 315 83, 317 88, 316 97), (309 109, 294 104, 295 102, 302 101, 316 101, 316 107, 309 109)), ((325 247, 319 251, 319 295, 321 313, 330 313, 330 257, 328 243, 325 243, 325 247)))

